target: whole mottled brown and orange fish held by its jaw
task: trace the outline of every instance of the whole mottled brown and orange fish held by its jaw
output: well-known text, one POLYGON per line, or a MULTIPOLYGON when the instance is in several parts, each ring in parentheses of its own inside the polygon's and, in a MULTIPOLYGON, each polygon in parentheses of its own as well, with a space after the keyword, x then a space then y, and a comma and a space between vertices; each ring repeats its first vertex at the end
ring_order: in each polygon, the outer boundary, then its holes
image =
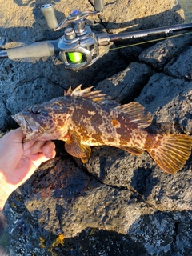
POLYGON ((90 146, 114 146, 134 155, 148 152, 168 174, 182 169, 191 153, 189 135, 149 133, 153 118, 141 104, 120 105, 92 88, 70 87, 64 96, 13 115, 25 141, 62 140, 66 151, 83 163, 90 158, 90 146))

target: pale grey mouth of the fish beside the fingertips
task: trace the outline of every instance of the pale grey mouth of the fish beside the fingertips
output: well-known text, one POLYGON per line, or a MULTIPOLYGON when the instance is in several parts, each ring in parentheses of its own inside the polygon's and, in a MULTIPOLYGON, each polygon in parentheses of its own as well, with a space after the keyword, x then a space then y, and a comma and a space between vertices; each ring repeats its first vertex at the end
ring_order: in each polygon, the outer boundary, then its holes
POLYGON ((12 118, 15 122, 21 126, 23 133, 26 135, 26 141, 34 139, 38 133, 38 122, 35 122, 33 118, 24 117, 22 114, 14 114, 12 118))

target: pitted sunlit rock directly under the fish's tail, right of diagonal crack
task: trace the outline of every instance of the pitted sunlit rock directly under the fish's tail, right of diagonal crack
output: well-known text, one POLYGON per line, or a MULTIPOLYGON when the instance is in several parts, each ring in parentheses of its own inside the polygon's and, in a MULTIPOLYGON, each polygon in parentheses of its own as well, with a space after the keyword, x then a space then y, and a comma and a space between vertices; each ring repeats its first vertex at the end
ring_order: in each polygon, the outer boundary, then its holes
POLYGON ((163 173, 148 154, 134 156, 109 147, 94 148, 87 170, 101 182, 135 191, 156 210, 191 210, 191 159, 174 176, 163 173), (181 182, 182 180, 182 182, 181 182))

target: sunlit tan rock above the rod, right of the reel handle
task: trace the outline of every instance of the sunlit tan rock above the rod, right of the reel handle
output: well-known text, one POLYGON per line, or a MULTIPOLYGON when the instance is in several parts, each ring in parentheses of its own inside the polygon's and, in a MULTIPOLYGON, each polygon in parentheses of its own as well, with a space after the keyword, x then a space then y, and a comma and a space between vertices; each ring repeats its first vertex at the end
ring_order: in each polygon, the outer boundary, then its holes
POLYGON ((181 6, 172 0, 169 2, 130 0, 121 3, 106 0, 101 17, 106 30, 115 34, 123 32, 127 28, 141 30, 182 23, 184 14, 181 6))

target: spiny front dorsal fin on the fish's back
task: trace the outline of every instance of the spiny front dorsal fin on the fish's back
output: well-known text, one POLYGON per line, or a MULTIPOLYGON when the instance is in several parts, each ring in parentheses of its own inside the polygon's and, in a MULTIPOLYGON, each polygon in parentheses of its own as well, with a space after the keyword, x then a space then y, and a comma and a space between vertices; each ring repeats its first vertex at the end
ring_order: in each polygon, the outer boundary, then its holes
POLYGON ((102 94, 101 90, 91 90, 92 88, 93 86, 82 89, 82 85, 80 85, 72 90, 70 87, 67 91, 64 91, 64 96, 86 98, 90 101, 97 102, 99 105, 107 105, 110 107, 118 106, 118 102, 114 102, 110 98, 105 98, 106 94, 102 94))

